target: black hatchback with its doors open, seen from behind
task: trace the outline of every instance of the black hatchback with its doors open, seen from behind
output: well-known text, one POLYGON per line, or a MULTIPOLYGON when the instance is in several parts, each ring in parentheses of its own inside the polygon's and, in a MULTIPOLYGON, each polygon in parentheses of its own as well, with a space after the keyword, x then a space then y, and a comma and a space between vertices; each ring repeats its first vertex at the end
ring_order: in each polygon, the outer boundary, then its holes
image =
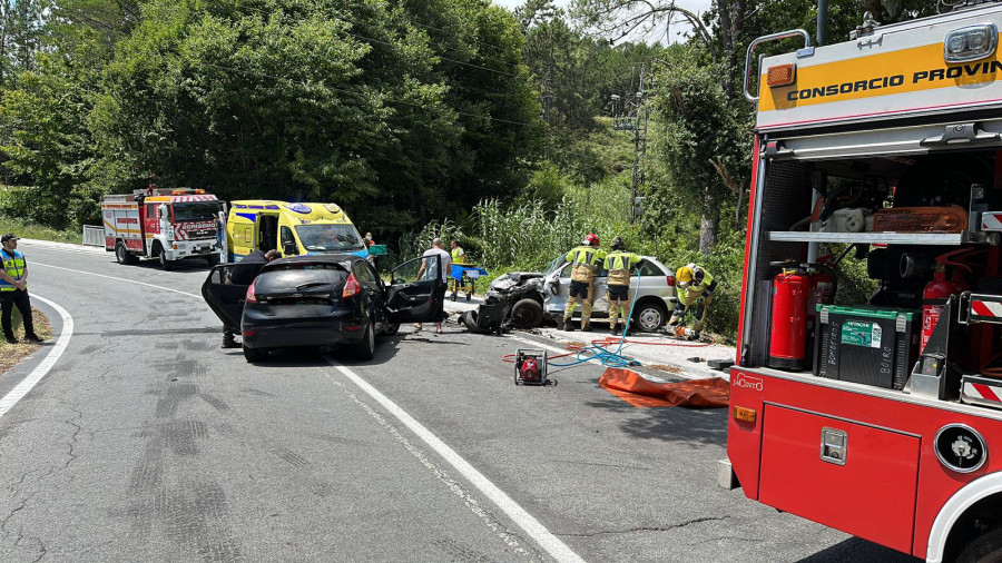
POLYGON ((371 359, 376 336, 395 334, 401 323, 442 317, 440 267, 438 256, 415 258, 397 266, 386 285, 353 255, 294 256, 263 268, 223 264, 209 273, 202 295, 243 336, 247 362, 264 359, 273 348, 337 345, 371 359))

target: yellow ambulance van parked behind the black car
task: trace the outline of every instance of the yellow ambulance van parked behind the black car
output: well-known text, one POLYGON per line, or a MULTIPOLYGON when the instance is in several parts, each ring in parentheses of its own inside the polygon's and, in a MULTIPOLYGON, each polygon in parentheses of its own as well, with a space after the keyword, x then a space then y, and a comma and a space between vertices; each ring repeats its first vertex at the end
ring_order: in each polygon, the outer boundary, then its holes
POLYGON ((247 199, 233 201, 226 223, 229 261, 254 250, 369 256, 365 240, 335 204, 301 204, 247 199))

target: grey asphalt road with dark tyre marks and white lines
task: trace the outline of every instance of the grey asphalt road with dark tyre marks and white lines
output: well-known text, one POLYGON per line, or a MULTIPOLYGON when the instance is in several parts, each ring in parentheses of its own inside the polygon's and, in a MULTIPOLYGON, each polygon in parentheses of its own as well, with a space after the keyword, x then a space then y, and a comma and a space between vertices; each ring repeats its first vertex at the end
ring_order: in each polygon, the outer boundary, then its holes
POLYGON ((524 345, 454 324, 249 365, 202 264, 21 249, 62 344, 0 396, 65 349, 0 415, 2 561, 912 561, 717 487, 724 409, 515 387, 524 345))

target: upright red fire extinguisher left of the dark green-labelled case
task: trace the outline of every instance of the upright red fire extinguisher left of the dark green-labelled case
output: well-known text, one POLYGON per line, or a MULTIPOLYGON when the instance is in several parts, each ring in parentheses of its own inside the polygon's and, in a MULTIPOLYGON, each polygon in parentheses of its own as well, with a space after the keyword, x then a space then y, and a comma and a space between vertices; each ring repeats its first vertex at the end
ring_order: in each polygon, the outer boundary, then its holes
POLYGON ((769 329, 769 367, 807 368, 807 300, 811 276, 784 268, 773 278, 773 322, 769 329))

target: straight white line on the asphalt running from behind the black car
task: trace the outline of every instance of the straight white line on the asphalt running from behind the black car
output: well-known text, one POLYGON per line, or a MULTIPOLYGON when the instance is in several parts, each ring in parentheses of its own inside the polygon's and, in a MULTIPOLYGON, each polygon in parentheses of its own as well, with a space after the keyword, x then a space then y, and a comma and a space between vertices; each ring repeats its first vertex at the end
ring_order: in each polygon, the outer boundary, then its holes
POLYGON ((360 375, 355 374, 347 367, 338 364, 334 359, 330 357, 326 358, 327 363, 331 364, 335 369, 344 374, 352 383, 357 385, 362 391, 364 391, 370 397, 375 399, 380 405, 383 406, 386 411, 390 412, 397 421, 403 423, 411 432, 418 435, 425 444, 429 445, 432 450, 435 451, 439 455, 441 455, 450 465, 452 465, 455 471, 460 472, 470 483, 473 484, 481 493, 483 493, 488 498, 491 500, 494 504, 498 505, 508 516, 514 521, 515 524, 519 525, 522 530, 525 531, 529 536, 536 541, 543 550, 547 551, 550 555, 553 556, 557 561, 561 562, 582 562, 580 555, 574 553, 567 544, 560 541, 559 537, 550 533, 542 524, 539 523, 531 514, 525 512, 524 508, 519 506, 510 496, 504 494, 497 485, 491 483, 482 473, 477 471, 472 465, 470 465, 465 460, 463 460, 454 450, 449 447, 444 442, 439 439, 438 436, 431 433, 428 428, 424 427, 421 423, 415 421, 411 415, 409 415, 403 408, 399 407, 396 403, 391 401, 389 397, 379 392, 375 387, 369 384, 365 379, 363 379, 360 375))

